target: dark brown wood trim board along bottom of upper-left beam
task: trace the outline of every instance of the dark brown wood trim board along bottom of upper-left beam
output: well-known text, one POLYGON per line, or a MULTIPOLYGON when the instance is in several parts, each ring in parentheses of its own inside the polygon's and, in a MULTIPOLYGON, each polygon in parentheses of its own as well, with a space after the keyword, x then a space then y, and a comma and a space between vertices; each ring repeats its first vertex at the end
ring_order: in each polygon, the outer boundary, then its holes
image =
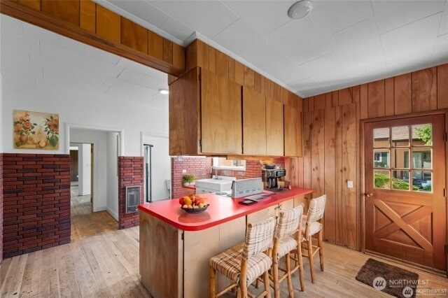
POLYGON ((29 22, 30 24, 48 29, 57 34, 61 34, 87 45, 92 45, 95 48, 105 50, 106 52, 111 52, 120 57, 131 59, 134 62, 150 66, 153 69, 158 69, 159 71, 163 71, 164 73, 168 73, 173 76, 179 76, 183 73, 183 69, 179 69, 170 63, 164 62, 143 52, 139 52, 120 43, 108 41, 97 34, 93 34, 90 31, 70 24, 69 22, 57 20, 54 17, 42 13, 41 11, 28 8, 27 6, 23 6, 14 1, 1 0, 0 13, 29 22))

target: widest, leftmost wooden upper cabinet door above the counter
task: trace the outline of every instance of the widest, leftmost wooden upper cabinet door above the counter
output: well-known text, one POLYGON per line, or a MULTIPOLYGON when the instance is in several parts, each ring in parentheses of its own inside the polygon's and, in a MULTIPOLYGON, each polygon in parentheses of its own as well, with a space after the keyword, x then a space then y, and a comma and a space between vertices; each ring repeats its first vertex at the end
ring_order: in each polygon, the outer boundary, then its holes
POLYGON ((241 85, 201 70, 202 150, 241 154, 241 85))

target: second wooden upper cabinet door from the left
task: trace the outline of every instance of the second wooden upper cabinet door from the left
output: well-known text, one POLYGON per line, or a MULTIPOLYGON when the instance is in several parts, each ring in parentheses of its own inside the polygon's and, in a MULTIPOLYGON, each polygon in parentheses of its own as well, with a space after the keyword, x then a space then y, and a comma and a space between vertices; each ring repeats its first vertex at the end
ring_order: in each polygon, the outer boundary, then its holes
POLYGON ((266 155, 265 96, 243 87, 243 154, 266 155))

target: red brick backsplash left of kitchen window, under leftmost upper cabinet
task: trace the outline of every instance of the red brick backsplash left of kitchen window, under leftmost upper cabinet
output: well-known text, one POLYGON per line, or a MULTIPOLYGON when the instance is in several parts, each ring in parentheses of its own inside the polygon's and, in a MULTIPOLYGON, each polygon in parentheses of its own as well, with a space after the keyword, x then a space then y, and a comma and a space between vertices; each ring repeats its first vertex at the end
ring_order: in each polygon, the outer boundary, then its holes
POLYGON ((182 176, 186 174, 195 175, 196 179, 211 178, 211 157, 182 157, 182 160, 177 160, 177 157, 171 159, 171 189, 172 198, 183 197, 192 194, 191 190, 182 187, 182 176), (182 173, 186 170, 186 173, 182 173))

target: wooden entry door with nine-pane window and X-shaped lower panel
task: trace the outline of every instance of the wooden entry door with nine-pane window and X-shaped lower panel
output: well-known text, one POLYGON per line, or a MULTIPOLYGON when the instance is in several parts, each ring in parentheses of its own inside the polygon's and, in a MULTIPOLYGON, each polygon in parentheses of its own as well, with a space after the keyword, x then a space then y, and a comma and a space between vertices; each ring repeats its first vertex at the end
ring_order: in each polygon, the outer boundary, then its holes
POLYGON ((366 250, 446 271, 444 115, 364 129, 366 250))

